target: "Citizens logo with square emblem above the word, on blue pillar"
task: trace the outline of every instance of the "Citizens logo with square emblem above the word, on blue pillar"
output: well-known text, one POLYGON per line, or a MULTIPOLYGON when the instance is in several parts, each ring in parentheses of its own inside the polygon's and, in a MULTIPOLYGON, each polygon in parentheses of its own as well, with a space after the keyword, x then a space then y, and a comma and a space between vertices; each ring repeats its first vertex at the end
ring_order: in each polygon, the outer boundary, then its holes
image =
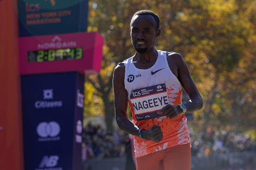
POLYGON ((36 101, 35 108, 60 108, 62 107, 62 101, 52 101, 53 99, 53 89, 43 90, 44 101, 36 101), (49 101, 51 100, 51 101, 49 101))

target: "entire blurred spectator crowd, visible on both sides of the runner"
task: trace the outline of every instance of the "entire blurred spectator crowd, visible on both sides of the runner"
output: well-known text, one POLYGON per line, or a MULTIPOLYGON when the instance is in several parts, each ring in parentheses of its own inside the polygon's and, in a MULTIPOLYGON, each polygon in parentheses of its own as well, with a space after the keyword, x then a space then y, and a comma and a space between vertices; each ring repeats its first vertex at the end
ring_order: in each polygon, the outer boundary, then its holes
MULTIPOLYGON (((207 128, 204 133, 192 129, 190 131, 192 156, 208 157, 219 153, 256 151, 256 140, 241 133, 211 128, 207 128)), ((131 152, 131 140, 131 136, 122 130, 108 132, 100 125, 93 126, 89 123, 83 133, 83 160, 125 156, 127 152, 131 152)))

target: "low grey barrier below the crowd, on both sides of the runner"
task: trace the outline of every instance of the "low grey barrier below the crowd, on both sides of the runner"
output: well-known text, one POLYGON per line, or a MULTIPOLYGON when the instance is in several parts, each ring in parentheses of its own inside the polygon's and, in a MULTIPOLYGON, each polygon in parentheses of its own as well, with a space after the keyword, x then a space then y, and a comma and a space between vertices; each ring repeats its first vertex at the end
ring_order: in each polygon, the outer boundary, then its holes
MULTIPOLYGON (((125 170, 126 158, 89 159, 83 170, 125 170)), ((192 157, 191 170, 256 170, 256 152, 221 153, 192 157)))

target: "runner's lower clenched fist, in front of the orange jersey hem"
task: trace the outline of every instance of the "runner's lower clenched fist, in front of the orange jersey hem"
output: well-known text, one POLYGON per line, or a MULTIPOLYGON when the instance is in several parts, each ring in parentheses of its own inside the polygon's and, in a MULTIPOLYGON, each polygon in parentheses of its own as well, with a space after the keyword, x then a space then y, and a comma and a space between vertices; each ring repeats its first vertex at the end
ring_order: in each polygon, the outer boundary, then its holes
POLYGON ((153 125, 149 130, 142 131, 143 139, 160 142, 163 139, 163 132, 160 126, 153 125))

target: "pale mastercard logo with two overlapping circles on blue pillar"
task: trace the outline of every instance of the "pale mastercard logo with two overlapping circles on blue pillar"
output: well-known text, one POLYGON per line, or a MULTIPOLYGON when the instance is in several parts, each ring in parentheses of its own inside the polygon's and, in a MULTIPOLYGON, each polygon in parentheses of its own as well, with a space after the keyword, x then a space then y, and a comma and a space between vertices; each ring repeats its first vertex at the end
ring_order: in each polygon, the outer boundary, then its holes
POLYGON ((40 138, 38 138, 39 142, 46 141, 59 141, 60 136, 59 133, 61 131, 61 127, 57 122, 41 122, 38 124, 36 128, 36 132, 40 138))

